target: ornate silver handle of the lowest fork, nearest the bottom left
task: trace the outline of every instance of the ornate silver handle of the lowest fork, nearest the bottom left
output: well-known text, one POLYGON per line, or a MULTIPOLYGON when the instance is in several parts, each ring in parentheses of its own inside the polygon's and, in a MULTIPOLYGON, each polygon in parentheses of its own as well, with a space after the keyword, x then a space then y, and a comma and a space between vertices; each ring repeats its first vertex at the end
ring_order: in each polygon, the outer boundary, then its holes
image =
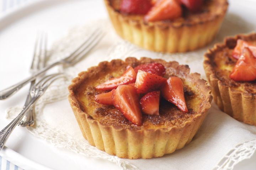
POLYGON ((31 108, 32 104, 39 98, 40 95, 34 97, 27 105, 24 105, 24 108, 20 112, 20 114, 17 115, 17 117, 11 121, 4 129, 0 131, 0 151, 4 147, 7 139, 11 135, 11 132, 14 130, 16 125, 19 123, 19 121, 23 118, 26 111, 31 108))

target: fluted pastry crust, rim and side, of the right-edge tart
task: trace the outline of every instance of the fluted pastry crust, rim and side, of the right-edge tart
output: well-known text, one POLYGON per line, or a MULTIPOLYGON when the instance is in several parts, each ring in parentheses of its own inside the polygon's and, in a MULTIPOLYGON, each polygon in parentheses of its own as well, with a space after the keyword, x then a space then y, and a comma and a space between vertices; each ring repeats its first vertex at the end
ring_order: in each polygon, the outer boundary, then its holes
POLYGON ((217 51, 222 50, 224 47, 234 49, 238 39, 246 41, 256 40, 256 33, 227 37, 224 39, 223 43, 215 44, 212 49, 209 49, 204 54, 203 66, 209 84, 212 86, 214 102, 218 105, 220 110, 239 121, 243 121, 250 125, 256 125, 256 94, 239 91, 229 87, 217 78, 211 64, 211 58, 215 56, 217 51))

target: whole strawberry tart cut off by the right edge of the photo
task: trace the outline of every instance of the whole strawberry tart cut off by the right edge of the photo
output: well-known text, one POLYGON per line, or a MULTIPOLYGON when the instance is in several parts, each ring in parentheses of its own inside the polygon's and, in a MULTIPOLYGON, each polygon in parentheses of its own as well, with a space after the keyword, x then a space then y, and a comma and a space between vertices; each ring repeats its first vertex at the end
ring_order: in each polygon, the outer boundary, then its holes
POLYGON ((204 69, 218 107, 256 125, 256 33, 225 38, 204 55, 204 69))

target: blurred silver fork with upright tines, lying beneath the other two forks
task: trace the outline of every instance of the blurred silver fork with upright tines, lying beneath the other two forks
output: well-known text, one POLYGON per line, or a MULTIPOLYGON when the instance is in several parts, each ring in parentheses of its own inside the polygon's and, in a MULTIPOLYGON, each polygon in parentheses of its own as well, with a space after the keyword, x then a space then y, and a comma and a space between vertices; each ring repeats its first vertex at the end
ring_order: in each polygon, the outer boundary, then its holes
MULTIPOLYGON (((30 72, 33 73, 35 70, 39 70, 45 67, 46 65, 46 49, 47 49, 47 35, 42 32, 37 34, 35 46, 34 46, 34 54, 30 67, 30 72)), ((27 95, 27 99, 25 105, 30 101, 31 95, 30 91, 33 88, 33 85, 36 83, 36 79, 32 80, 30 83, 30 90, 27 95)), ((19 126, 27 127, 34 125, 34 105, 26 112, 22 120, 18 123, 19 126)))

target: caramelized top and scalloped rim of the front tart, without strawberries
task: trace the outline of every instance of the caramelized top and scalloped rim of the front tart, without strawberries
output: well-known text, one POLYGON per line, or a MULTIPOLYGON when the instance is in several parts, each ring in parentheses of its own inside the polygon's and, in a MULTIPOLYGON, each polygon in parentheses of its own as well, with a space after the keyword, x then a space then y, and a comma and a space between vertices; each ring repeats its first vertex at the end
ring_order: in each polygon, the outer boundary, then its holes
POLYGON ((88 116, 91 121, 96 120, 106 126, 131 130, 182 126, 185 125, 186 121, 193 121, 196 116, 206 114, 212 100, 210 95, 211 88, 206 81, 200 79, 200 74, 190 74, 189 72, 190 69, 187 65, 179 65, 177 62, 166 62, 164 60, 152 60, 150 58, 137 60, 136 58, 128 57, 125 61, 101 62, 98 66, 91 67, 86 72, 81 72, 72 81, 69 86, 69 98, 76 108, 81 110, 81 114, 88 116), (94 100, 96 94, 103 92, 95 89, 98 84, 112 77, 120 76, 127 66, 134 68, 139 64, 152 62, 158 62, 165 66, 166 74, 164 77, 177 76, 182 79, 186 104, 189 109, 188 113, 183 113, 175 105, 162 98, 160 100, 160 115, 143 115, 142 125, 136 126, 127 120, 114 106, 100 104, 94 100))

